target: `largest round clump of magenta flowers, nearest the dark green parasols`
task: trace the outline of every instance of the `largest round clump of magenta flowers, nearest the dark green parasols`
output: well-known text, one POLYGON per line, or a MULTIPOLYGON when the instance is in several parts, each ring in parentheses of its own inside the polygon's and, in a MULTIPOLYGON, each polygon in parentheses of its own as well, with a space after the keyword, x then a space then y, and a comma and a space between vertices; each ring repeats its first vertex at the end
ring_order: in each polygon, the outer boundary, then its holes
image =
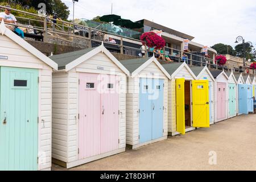
POLYGON ((155 32, 146 32, 142 34, 141 42, 144 46, 146 44, 147 47, 155 47, 156 49, 166 46, 166 41, 159 35, 155 34, 155 32))

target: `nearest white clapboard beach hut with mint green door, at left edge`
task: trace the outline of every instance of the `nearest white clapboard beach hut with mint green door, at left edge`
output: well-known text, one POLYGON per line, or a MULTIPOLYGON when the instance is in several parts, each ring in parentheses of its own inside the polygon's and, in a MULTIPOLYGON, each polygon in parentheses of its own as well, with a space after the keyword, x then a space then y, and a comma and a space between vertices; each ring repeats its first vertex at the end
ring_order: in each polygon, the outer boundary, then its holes
POLYGON ((51 169, 52 70, 57 64, 0 26, 0 171, 51 169))

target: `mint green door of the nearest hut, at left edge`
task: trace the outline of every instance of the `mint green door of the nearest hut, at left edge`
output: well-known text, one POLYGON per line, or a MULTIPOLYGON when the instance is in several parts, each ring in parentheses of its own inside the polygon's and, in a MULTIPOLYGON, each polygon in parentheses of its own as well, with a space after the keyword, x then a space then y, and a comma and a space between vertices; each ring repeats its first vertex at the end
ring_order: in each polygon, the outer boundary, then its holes
POLYGON ((0 170, 37 170, 38 69, 0 72, 0 170))

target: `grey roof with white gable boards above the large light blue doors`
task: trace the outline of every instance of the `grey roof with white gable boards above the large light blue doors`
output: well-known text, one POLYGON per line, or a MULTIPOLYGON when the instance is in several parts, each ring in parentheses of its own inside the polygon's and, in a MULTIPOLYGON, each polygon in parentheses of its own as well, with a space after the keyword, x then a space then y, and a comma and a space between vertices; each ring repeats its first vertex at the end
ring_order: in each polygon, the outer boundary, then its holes
POLYGON ((163 66, 154 56, 120 61, 120 63, 122 63, 122 65, 130 71, 131 77, 135 77, 136 75, 138 75, 139 72, 141 72, 152 62, 154 62, 158 66, 158 68, 164 73, 164 75, 166 75, 166 77, 171 79, 170 74, 166 71, 166 69, 163 68, 163 66))

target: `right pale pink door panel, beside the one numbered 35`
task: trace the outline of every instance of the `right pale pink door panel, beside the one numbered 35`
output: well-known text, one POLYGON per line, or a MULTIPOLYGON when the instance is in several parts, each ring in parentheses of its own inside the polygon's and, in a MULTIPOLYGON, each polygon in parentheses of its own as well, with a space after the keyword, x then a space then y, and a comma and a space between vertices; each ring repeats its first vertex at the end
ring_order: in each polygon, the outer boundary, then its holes
POLYGON ((101 154, 118 149, 119 77, 101 75, 101 154))

